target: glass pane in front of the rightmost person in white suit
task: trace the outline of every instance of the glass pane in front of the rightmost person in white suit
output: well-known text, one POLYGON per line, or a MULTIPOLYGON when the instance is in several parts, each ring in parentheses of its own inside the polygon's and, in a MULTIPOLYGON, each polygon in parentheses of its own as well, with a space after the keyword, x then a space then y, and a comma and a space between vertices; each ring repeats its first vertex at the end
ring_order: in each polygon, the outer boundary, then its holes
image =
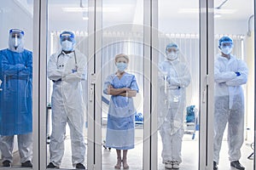
POLYGON ((253 3, 214 1, 215 169, 253 169, 253 3))

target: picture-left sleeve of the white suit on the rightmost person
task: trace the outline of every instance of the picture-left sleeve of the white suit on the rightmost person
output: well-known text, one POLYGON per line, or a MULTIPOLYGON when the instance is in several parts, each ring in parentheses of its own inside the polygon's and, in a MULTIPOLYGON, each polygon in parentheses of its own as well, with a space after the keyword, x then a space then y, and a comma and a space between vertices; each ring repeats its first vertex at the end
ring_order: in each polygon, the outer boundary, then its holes
POLYGON ((220 71, 220 66, 218 61, 214 63, 214 81, 218 83, 228 82, 236 78, 236 73, 234 71, 220 71))

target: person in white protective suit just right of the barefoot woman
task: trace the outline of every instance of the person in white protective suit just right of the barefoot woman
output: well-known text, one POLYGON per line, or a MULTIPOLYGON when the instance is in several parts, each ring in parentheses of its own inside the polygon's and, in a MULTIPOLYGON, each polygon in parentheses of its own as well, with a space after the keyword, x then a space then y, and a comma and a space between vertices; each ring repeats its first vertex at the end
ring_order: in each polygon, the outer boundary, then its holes
POLYGON ((178 169, 182 162, 183 118, 189 68, 178 57, 176 43, 166 46, 166 60, 159 66, 159 127, 163 144, 162 162, 168 169, 178 169))

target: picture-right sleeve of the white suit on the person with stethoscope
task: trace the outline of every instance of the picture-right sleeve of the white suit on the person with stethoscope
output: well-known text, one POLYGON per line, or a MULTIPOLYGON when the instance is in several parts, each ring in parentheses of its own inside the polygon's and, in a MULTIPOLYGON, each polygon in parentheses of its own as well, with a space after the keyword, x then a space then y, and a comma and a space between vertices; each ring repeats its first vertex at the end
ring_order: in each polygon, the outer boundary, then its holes
POLYGON ((66 77, 63 77, 63 81, 79 82, 86 79, 86 75, 87 75, 86 57, 84 54, 81 54, 81 53, 78 53, 77 57, 79 58, 78 70, 76 72, 69 71, 66 77))

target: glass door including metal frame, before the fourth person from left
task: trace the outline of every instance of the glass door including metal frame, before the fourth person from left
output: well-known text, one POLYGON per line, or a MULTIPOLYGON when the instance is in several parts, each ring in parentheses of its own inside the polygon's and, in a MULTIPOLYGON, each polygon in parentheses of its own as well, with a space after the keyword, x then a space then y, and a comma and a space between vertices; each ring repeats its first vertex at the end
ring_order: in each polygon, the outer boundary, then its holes
POLYGON ((153 5, 151 167, 212 169, 213 2, 153 5))

